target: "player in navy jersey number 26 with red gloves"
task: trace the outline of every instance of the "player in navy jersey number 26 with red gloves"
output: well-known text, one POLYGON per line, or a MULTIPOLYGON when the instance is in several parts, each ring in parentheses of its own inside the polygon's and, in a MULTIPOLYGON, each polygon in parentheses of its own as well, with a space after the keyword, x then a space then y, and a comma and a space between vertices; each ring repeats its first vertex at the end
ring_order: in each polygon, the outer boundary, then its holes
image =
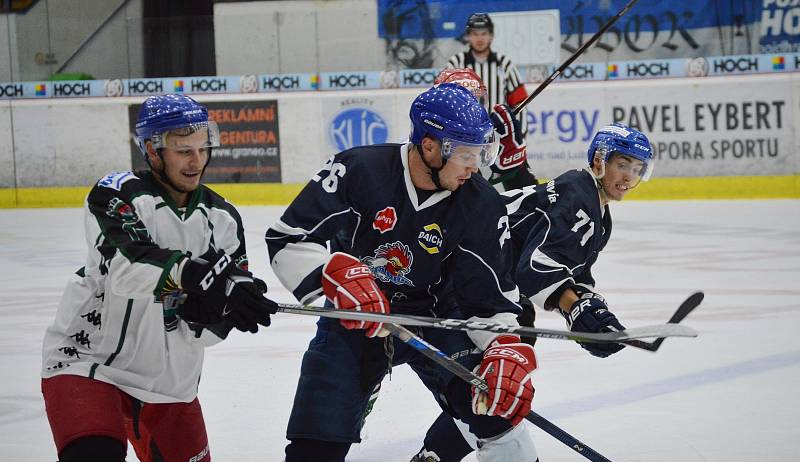
MULTIPOLYGON (((267 230, 275 274, 303 303, 324 295, 339 309, 515 323, 519 294, 506 260, 505 207, 475 175, 497 151, 488 114, 464 88, 442 84, 414 100, 410 118, 410 142, 341 152, 312 178, 267 230), (459 291, 454 303, 442 304, 449 284, 459 291)), ((512 335, 419 330, 478 367, 492 385, 483 408, 469 384, 385 334, 379 323, 319 320, 289 419, 288 462, 344 460, 360 441, 373 389, 404 363, 444 412, 481 439, 479 460, 522 460, 524 444, 532 446, 517 425, 534 392, 530 345, 512 335)))

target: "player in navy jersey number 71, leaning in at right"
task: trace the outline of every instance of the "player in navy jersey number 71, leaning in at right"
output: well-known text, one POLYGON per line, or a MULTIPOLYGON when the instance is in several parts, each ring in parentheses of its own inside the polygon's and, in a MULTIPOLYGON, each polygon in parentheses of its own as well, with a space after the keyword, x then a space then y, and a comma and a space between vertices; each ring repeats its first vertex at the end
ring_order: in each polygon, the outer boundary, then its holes
MULTIPOLYGON (((644 134, 614 123, 595 135, 588 162, 588 168, 570 170, 547 184, 503 193, 514 280, 523 298, 561 313, 572 331, 623 330, 605 298, 595 292, 592 266, 611 237, 610 202, 623 200, 640 181, 650 178, 653 151, 644 134)), ((533 325, 533 311, 526 314, 520 323, 533 325)), ((601 358, 624 347, 615 343, 580 346, 601 358)), ((475 446, 475 437, 467 426, 440 414, 413 461, 458 461, 475 446)))

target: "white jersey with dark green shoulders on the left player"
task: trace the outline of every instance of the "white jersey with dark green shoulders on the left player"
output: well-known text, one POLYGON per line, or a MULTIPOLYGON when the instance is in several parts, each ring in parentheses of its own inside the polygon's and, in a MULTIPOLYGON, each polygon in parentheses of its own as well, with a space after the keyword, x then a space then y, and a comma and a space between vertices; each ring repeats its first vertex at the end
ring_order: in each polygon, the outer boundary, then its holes
POLYGON ((211 245, 246 265, 238 212, 202 185, 178 209, 150 172, 112 173, 86 198, 85 229, 86 265, 45 334, 42 377, 90 377, 150 403, 192 401, 204 347, 230 328, 190 325, 162 300, 185 257, 211 245))

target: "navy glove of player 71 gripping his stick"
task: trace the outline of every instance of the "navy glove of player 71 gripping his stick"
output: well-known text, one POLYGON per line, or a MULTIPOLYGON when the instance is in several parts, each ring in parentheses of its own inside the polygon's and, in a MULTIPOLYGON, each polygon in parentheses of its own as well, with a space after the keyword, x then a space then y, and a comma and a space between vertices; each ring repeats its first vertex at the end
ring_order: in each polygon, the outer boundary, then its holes
MULTIPOLYGON (((617 317, 608 311, 608 305, 602 295, 585 292, 572 304, 572 311, 564 313, 567 326, 573 332, 611 332, 625 330, 617 317)), ((579 342, 581 347, 593 356, 605 358, 625 348, 621 343, 587 343, 579 342)))

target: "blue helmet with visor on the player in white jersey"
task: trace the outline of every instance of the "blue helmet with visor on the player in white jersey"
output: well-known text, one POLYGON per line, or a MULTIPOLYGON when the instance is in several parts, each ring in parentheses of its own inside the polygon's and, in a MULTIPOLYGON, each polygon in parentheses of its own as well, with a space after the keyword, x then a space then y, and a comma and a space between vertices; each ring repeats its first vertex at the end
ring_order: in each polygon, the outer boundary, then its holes
POLYGON ((186 95, 166 94, 151 96, 142 104, 136 122, 136 141, 139 149, 147 157, 145 141, 150 140, 153 148, 170 147, 167 134, 180 129, 183 135, 207 129, 208 139, 201 147, 217 147, 219 128, 208 120, 208 109, 186 95))

